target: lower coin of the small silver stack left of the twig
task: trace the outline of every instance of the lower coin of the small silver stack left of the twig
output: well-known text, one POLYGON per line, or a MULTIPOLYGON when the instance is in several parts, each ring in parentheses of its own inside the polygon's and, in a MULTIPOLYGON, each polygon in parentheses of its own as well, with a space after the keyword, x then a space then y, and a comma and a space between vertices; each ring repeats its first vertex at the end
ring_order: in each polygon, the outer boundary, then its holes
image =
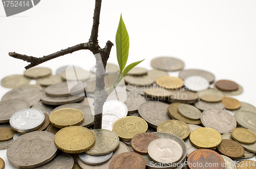
POLYGON ((42 95, 42 103, 49 105, 62 105, 69 103, 76 103, 84 99, 84 96, 67 96, 67 97, 51 97, 47 95, 42 95))

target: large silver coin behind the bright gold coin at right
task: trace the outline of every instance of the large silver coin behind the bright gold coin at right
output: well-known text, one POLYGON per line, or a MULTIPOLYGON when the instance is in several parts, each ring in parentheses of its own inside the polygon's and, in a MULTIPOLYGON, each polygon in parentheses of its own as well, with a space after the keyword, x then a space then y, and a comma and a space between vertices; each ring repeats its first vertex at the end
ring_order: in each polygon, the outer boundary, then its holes
POLYGON ((211 108, 204 110, 201 121, 205 127, 213 128, 222 134, 231 132, 237 127, 236 119, 223 109, 211 108))

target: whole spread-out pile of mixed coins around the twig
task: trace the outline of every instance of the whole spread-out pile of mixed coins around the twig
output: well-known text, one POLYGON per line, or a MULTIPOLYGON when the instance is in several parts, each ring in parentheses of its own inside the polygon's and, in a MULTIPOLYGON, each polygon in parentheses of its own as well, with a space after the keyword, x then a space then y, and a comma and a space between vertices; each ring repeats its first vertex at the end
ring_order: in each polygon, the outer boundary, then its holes
MULTIPOLYGON (((127 73, 103 105, 102 129, 94 130, 94 67, 75 67, 75 79, 74 67, 67 66, 56 75, 32 68, 2 79, 13 89, 0 102, 0 149, 9 147, 8 160, 20 168, 223 169, 224 163, 253 163, 232 161, 256 153, 256 108, 232 97, 243 92, 240 85, 215 82, 208 71, 183 70, 172 57, 155 58, 151 66, 127 73), (180 71, 179 77, 170 71, 180 71)), ((119 68, 108 64, 106 72, 108 89, 119 68)))

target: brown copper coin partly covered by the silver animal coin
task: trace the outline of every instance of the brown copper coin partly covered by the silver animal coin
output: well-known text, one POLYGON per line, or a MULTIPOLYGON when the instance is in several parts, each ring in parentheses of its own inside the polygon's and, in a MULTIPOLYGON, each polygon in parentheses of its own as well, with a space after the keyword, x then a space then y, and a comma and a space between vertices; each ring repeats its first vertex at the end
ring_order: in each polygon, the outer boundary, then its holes
POLYGON ((131 146, 136 153, 147 154, 148 145, 155 139, 160 138, 153 133, 139 133, 131 140, 131 146))

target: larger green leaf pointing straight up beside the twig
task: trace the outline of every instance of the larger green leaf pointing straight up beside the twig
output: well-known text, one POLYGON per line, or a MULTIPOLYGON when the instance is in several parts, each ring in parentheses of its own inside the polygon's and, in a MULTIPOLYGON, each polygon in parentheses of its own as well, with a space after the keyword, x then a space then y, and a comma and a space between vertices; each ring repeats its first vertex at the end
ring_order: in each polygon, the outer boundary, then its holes
POLYGON ((122 14, 116 32, 116 54, 121 73, 126 65, 129 54, 129 35, 123 22, 122 14))

